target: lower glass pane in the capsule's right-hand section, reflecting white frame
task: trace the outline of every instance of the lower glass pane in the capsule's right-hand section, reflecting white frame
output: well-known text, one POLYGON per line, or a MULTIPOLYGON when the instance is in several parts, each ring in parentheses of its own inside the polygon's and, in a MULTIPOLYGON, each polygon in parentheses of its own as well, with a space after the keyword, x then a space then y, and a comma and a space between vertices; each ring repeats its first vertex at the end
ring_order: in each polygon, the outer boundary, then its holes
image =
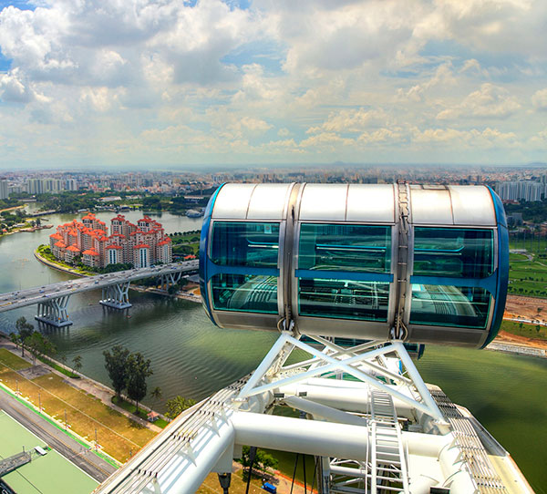
POLYGON ((484 288, 413 284, 411 324, 484 328, 490 293, 484 288))

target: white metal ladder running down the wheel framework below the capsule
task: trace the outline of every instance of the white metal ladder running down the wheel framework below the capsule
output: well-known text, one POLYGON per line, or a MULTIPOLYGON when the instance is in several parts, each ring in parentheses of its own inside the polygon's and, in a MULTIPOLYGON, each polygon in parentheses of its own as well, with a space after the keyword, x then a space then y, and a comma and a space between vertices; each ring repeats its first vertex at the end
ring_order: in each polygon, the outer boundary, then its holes
POLYGON ((408 493, 408 468, 393 399, 370 389, 371 494, 408 493))

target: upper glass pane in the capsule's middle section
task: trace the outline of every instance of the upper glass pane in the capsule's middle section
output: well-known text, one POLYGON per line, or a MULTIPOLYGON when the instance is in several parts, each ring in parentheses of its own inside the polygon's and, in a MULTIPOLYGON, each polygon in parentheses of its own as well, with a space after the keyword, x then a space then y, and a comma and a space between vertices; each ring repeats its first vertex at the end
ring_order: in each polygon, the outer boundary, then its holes
POLYGON ((390 273, 391 227, 303 223, 298 268, 390 273))

